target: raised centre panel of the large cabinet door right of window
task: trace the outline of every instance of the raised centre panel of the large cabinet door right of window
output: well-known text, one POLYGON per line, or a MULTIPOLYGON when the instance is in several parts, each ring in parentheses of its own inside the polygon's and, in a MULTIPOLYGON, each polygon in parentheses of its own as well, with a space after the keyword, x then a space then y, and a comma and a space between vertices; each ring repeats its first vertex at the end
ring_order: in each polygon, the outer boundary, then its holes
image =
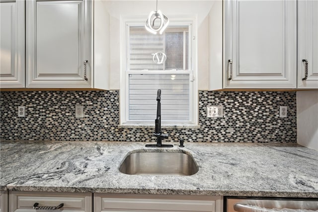
POLYGON ((285 59, 283 1, 239 1, 238 6, 237 77, 280 76, 285 59))

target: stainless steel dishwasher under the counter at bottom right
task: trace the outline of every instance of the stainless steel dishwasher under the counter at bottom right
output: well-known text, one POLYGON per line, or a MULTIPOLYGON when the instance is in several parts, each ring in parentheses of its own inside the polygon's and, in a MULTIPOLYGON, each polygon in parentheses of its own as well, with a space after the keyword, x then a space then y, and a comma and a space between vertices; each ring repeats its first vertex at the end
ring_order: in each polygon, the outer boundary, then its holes
POLYGON ((225 197, 224 212, 318 212, 318 198, 225 197))

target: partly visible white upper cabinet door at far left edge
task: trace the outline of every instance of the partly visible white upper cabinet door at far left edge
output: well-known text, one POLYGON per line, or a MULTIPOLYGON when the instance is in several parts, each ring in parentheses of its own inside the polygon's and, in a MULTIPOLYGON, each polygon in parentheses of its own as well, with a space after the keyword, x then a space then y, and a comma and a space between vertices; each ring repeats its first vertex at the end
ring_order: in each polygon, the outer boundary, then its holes
POLYGON ((24 1, 0 2, 0 87, 23 88, 24 1))

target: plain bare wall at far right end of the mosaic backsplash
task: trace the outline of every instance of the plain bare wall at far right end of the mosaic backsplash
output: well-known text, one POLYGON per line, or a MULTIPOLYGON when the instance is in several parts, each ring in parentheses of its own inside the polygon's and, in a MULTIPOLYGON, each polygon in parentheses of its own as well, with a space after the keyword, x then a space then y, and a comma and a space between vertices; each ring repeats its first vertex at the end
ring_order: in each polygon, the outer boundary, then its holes
POLYGON ((297 143, 318 151, 318 91, 297 94, 297 143))

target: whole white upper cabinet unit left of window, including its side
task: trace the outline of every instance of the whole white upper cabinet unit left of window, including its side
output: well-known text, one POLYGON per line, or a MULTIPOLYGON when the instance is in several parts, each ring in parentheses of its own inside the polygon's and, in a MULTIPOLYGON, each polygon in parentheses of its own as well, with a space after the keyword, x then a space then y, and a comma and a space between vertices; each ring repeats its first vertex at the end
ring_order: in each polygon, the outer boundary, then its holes
POLYGON ((101 1, 1 2, 1 88, 108 90, 109 18, 105 14, 101 1))

